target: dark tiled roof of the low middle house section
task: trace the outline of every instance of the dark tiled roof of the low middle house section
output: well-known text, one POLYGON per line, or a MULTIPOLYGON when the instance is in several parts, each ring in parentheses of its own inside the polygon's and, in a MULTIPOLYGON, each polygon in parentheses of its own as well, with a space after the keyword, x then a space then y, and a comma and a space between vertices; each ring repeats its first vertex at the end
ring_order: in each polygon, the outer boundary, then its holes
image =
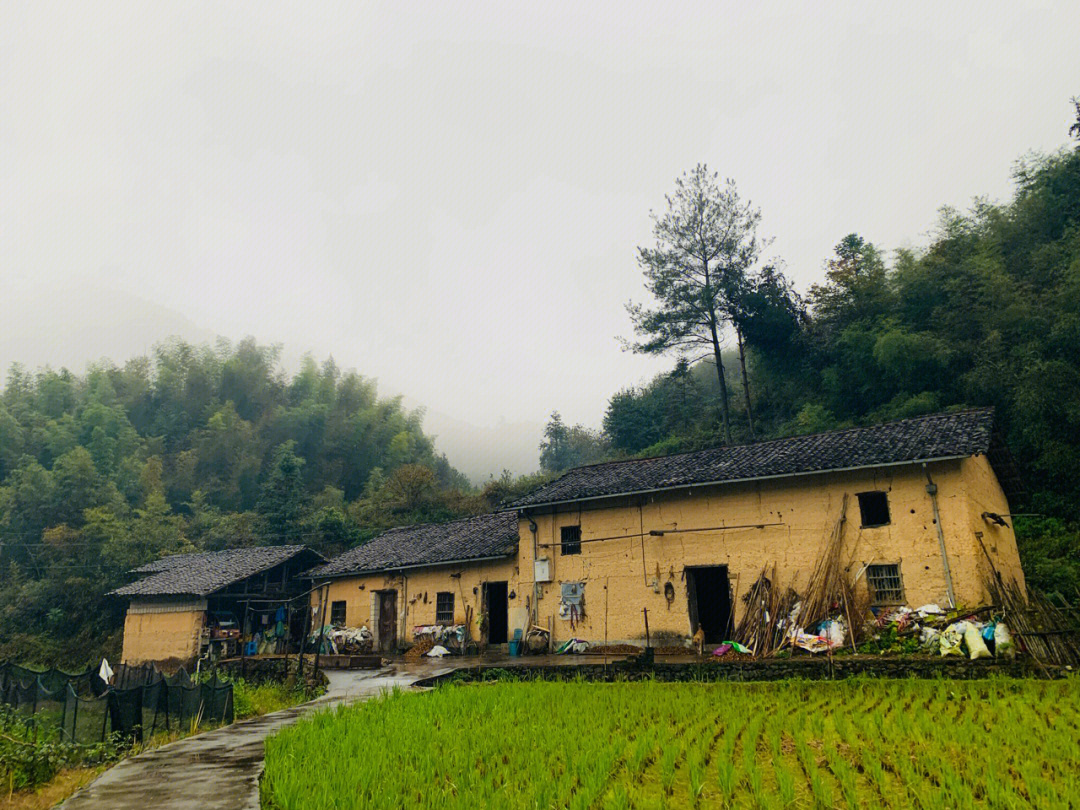
POLYGON ((428 523, 390 529, 374 540, 350 549, 309 577, 341 577, 467 559, 510 556, 517 546, 517 515, 467 517, 449 523, 428 523))

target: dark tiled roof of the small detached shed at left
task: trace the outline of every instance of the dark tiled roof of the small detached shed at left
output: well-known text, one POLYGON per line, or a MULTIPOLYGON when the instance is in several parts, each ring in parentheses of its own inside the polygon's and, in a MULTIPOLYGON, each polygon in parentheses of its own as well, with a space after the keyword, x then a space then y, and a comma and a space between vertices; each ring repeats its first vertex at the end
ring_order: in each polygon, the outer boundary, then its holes
POLYGON ((112 591, 114 596, 206 596, 293 557, 313 565, 322 555, 306 545, 258 545, 200 554, 174 554, 148 563, 136 572, 150 573, 112 591))

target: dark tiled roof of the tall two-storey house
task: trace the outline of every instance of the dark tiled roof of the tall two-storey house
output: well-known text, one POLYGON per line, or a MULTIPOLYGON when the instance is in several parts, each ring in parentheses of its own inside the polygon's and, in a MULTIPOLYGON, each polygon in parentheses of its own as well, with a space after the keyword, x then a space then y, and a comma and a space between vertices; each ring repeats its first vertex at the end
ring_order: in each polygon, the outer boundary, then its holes
POLYGON ((994 408, 978 408, 677 456, 611 461, 570 470, 510 508, 696 484, 975 456, 990 448, 993 433, 994 408))

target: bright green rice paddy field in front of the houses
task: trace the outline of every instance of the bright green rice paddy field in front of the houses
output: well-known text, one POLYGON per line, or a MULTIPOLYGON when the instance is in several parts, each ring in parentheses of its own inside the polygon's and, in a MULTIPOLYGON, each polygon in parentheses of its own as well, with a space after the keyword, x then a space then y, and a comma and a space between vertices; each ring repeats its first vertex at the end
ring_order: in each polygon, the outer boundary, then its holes
POLYGON ((1080 681, 448 685, 266 748, 276 810, 1066 808, 1080 681))

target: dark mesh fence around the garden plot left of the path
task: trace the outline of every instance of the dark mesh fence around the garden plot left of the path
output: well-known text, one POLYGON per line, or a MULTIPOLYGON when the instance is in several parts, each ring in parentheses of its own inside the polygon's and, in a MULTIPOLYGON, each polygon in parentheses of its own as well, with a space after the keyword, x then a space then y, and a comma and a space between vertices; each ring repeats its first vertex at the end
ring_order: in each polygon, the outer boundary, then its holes
POLYGON ((136 741, 158 731, 194 731, 232 723, 232 684, 215 673, 194 680, 185 671, 163 675, 153 666, 117 667, 112 683, 93 671, 38 672, 0 663, 0 703, 42 728, 58 728, 80 745, 119 733, 136 741))

